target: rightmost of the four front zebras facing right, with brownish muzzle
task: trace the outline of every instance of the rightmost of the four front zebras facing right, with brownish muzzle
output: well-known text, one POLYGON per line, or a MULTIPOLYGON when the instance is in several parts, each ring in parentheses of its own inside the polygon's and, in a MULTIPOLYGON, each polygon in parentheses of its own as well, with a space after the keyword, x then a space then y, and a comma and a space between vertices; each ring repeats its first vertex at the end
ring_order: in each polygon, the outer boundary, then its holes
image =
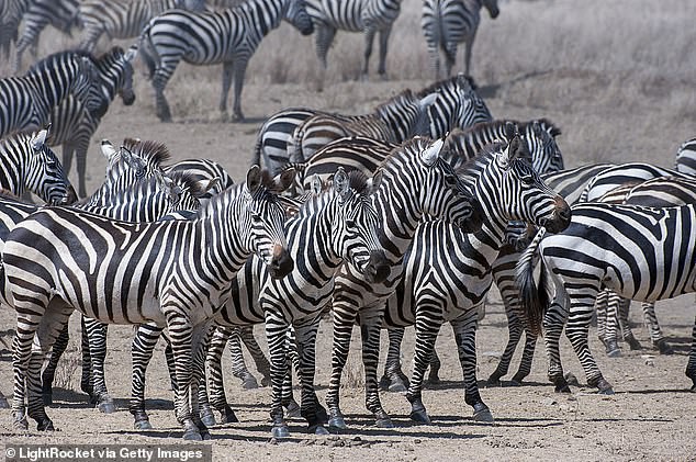
MULTIPOLYGON (((415 421, 430 421, 422 399, 423 381, 445 322, 454 333, 465 402, 473 407, 474 420, 493 419, 479 393, 475 352, 478 306, 493 283, 492 264, 510 221, 546 226, 555 233, 564 229, 571 217, 570 206, 543 183, 530 160, 518 136, 484 148, 458 170, 474 184, 485 216, 482 229, 467 234, 440 221, 423 222, 404 256, 403 275, 386 301, 384 326, 415 325, 414 370, 406 392, 415 421)), ((368 320, 380 322, 379 317, 368 320)), ((366 328, 366 323, 361 325, 366 328)), ((370 353, 379 356, 379 349, 370 353)), ((366 383, 377 382, 377 376, 371 379, 366 378, 366 383)))

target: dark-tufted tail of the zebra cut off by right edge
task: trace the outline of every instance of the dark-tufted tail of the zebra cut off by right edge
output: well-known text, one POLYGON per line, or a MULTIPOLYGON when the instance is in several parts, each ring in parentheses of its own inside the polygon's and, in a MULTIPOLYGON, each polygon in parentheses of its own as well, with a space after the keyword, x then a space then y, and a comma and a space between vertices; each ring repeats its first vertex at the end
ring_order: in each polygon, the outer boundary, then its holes
POLYGON ((541 227, 527 249, 523 252, 515 270, 515 281, 519 290, 519 303, 529 330, 536 335, 542 334, 542 322, 549 294, 547 292, 547 274, 543 268, 543 259, 540 262, 539 285, 535 282, 535 259, 539 250, 539 244, 546 235, 546 228, 541 227))

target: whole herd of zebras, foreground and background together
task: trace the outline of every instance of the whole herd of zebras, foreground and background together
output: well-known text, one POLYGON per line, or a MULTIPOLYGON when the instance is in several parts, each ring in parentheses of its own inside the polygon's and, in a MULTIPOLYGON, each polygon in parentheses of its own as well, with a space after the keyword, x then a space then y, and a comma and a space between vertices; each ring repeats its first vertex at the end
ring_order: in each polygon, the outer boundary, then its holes
MULTIPOLYGON (((509 340, 491 385, 508 373, 524 333, 512 379, 521 384, 543 334, 549 380, 557 392, 570 392, 559 352, 565 328, 590 386, 613 393, 588 349, 595 306, 608 354, 620 352, 619 328, 631 348, 641 348, 626 323, 630 301, 644 303, 653 345, 672 351, 652 304, 696 292, 696 139, 680 147, 675 169, 632 162, 566 170, 557 144, 561 131, 548 119, 494 120, 470 77, 439 79, 438 47, 449 76, 461 42, 470 72, 480 10, 497 16, 495 0, 426 0, 423 29, 436 81, 364 114, 278 111, 258 131, 244 182, 210 159, 167 165, 165 144, 126 137, 119 147, 102 140, 104 180, 88 195, 90 139, 116 95, 124 105, 134 102, 136 55, 149 71, 161 121, 172 119, 165 88, 180 61, 222 64, 220 110, 226 112, 234 81, 233 116, 243 120, 249 59, 281 21, 316 34, 323 67, 337 31, 364 32, 363 76, 379 35, 378 74, 385 76, 400 8, 398 0, 234 7, 0 0, 0 45, 7 54, 16 43, 15 70, 47 24, 83 29, 79 50, 52 54, 24 75, 0 79, 0 303, 16 313, 16 428, 26 429, 29 418, 40 430, 54 428, 46 405, 75 311, 82 315, 81 387, 103 413, 115 409, 104 374, 106 326, 134 326, 130 412, 137 429, 151 428, 145 373, 165 338, 175 414, 187 440, 211 438, 213 410, 225 422, 238 420, 221 365, 228 340, 235 375, 254 384, 242 342, 262 368, 273 437, 290 435, 291 416, 315 435, 347 428, 340 392, 356 325, 366 408, 378 427, 394 426, 381 387, 405 392, 411 419, 430 422, 423 390, 428 368, 427 380, 439 380, 435 340, 446 322, 464 401, 475 420, 492 421, 476 380, 475 333, 494 282, 509 340), (96 56, 104 34, 138 41, 96 56), (57 145, 63 162, 50 150, 57 145), (67 180, 72 156, 77 193, 67 180), (26 192, 46 205, 18 199, 26 192), (333 346, 325 407, 315 369, 318 326, 327 316, 333 346), (251 335, 261 324, 268 359, 251 335), (401 343, 411 326, 415 352, 406 376, 401 343), (383 329, 389 351, 380 379, 383 329)), ((696 392, 696 326, 686 375, 696 392)))

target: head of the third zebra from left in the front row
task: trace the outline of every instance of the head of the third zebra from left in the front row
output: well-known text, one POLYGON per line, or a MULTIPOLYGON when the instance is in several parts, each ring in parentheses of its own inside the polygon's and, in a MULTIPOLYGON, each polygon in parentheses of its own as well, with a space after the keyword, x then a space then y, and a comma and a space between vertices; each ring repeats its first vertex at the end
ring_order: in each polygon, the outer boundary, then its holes
MULTIPOLYGON (((441 157, 444 144, 442 139, 415 137, 384 159, 380 191, 384 191, 393 204, 382 204, 381 210, 405 210, 415 213, 414 218, 418 216, 418 219, 428 215, 459 226, 465 233, 474 233, 483 224, 479 201, 470 184, 460 180, 441 157)), ((385 201, 383 194, 378 200, 385 201)))

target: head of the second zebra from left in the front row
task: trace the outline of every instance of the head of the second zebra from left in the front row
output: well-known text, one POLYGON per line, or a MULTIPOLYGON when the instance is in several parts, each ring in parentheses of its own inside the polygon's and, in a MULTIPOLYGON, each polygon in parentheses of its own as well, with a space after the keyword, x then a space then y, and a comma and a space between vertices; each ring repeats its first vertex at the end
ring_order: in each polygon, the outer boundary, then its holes
POLYGON ((381 181, 381 170, 368 179, 359 171, 347 174, 343 167, 333 178, 333 189, 343 218, 337 226, 337 232, 343 234, 343 238, 339 238, 340 255, 369 283, 383 282, 390 273, 389 260, 380 245, 379 215, 372 205, 372 196, 381 181))

